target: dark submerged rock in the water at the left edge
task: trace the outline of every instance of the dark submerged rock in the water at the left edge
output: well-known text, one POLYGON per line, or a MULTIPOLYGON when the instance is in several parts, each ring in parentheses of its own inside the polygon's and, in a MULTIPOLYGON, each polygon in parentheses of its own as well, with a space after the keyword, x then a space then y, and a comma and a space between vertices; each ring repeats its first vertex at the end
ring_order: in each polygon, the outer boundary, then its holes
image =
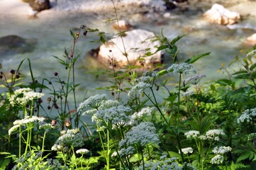
POLYGON ((0 38, 0 56, 32 52, 36 40, 24 39, 17 35, 8 35, 0 38))

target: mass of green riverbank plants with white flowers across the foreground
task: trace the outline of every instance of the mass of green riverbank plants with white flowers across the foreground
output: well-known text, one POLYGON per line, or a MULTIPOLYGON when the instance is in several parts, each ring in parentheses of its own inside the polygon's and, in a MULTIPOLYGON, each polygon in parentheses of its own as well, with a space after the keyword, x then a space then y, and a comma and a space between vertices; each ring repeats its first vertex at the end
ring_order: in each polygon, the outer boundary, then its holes
POLYGON ((100 88, 106 94, 87 96, 78 106, 81 31, 106 42, 97 29, 70 31, 70 52, 55 57, 67 71, 65 81, 57 72, 35 79, 30 60, 28 84, 21 82, 24 60, 0 72, 0 169, 255 169, 256 50, 237 60, 243 67, 232 73, 222 64, 227 79, 202 83, 206 75, 196 74, 193 64, 209 53, 181 63, 176 43, 182 36, 168 40, 162 31, 154 41, 171 66, 145 70, 141 64, 138 71, 129 62, 122 69, 113 64, 96 74, 112 77, 111 86, 100 88))

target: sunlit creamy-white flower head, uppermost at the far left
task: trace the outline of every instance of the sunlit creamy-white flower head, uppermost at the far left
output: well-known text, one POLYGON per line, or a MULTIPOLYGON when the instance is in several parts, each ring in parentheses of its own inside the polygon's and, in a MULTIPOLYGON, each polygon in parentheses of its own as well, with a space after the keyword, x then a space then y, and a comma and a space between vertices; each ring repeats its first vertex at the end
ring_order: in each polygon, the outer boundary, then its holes
POLYGON ((21 106, 25 106, 29 101, 41 98, 44 95, 45 94, 34 92, 29 88, 17 89, 14 91, 14 94, 10 96, 9 101, 12 106, 15 103, 21 106))

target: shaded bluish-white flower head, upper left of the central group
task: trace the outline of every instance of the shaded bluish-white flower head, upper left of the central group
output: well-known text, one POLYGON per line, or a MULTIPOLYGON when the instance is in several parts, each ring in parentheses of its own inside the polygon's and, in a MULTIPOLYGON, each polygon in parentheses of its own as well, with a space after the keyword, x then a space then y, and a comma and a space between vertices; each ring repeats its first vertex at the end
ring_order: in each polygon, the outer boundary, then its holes
POLYGON ((106 96, 106 94, 90 96, 79 104, 77 111, 82 111, 84 109, 87 110, 88 108, 99 108, 99 106, 101 106, 101 102, 106 100, 108 100, 108 96, 106 96))

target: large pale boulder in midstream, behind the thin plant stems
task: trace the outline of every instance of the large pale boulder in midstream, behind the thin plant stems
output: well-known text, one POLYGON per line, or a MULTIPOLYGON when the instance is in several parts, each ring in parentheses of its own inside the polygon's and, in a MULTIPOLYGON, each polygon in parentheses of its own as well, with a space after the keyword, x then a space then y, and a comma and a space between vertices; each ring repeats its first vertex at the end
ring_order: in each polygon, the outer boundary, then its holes
POLYGON ((150 41, 154 36, 154 33, 147 30, 127 31, 123 41, 121 37, 115 37, 99 47, 99 61, 116 67, 123 67, 128 61, 132 65, 144 64, 146 67, 152 67, 152 64, 160 63, 162 60, 162 52, 156 52, 156 46, 160 46, 160 42, 150 41), (150 52, 152 55, 148 55, 150 52))

